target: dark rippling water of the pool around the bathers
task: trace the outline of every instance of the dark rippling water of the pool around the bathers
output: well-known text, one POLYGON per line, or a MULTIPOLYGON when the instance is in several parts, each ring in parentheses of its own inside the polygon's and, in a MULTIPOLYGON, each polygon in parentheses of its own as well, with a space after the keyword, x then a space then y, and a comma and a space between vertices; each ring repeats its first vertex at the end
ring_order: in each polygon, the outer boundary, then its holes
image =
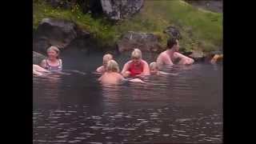
MULTIPOLYGON (((121 69, 129 59, 115 58, 121 69)), ((102 86, 92 73, 102 54, 67 54, 63 63, 70 75, 33 78, 34 143, 222 142, 222 65, 174 66, 163 71, 177 76, 145 85, 102 86)))

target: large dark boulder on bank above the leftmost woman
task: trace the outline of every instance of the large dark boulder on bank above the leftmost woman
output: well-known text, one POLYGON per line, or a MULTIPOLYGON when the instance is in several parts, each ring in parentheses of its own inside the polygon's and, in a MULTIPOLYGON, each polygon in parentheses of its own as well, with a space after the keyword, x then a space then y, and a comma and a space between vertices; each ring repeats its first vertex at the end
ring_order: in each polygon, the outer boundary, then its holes
POLYGON ((34 51, 46 54, 49 46, 63 49, 75 38, 89 38, 90 33, 81 30, 74 22, 43 18, 34 33, 34 51))

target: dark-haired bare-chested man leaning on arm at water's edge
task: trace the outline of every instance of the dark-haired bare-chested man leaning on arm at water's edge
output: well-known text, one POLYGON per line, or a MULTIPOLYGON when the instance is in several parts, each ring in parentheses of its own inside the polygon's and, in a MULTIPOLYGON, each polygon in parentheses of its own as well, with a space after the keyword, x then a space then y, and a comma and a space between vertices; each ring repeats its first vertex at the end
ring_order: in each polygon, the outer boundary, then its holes
POLYGON ((176 38, 169 38, 167 41, 167 50, 163 51, 161 54, 158 55, 157 63, 158 66, 162 65, 174 65, 174 62, 179 60, 178 64, 182 65, 190 65, 194 63, 194 59, 186 57, 183 54, 178 53, 179 44, 178 39, 176 38))

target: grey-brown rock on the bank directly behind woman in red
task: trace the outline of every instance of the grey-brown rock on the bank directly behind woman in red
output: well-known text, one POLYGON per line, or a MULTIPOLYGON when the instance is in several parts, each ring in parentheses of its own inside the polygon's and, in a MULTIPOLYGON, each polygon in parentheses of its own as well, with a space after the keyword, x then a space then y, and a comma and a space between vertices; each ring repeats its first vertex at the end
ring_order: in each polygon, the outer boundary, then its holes
POLYGON ((120 41, 118 41, 118 51, 128 51, 138 48, 142 51, 156 52, 161 49, 158 42, 158 37, 154 34, 136 33, 128 31, 124 34, 120 41))

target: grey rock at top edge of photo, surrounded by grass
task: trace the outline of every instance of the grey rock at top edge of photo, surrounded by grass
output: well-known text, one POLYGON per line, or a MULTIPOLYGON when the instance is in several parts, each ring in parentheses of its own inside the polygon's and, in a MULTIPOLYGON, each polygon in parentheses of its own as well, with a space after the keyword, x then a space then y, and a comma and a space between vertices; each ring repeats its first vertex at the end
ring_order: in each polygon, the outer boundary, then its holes
POLYGON ((144 0, 101 0, 102 10, 108 18, 121 20, 137 13, 143 6, 144 0))

